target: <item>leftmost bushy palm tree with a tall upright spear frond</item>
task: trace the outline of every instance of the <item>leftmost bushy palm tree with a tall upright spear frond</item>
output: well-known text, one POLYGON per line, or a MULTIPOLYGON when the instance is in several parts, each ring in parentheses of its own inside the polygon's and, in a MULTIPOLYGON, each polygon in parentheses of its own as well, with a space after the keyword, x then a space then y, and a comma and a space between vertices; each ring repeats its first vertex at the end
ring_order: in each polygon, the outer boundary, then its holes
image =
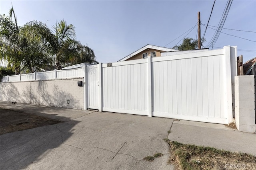
POLYGON ((8 68, 15 74, 21 70, 34 72, 49 62, 47 53, 42 48, 40 37, 24 34, 24 27, 18 27, 13 7, 10 16, 0 15, 0 60, 7 61, 8 68), (15 22, 12 21, 12 14, 15 22))

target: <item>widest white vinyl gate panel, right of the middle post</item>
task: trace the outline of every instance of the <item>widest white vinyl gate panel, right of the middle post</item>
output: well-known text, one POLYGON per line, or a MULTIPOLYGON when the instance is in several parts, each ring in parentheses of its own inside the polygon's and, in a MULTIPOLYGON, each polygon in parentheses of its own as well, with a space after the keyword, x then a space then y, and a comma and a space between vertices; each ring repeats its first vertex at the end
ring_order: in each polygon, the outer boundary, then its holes
MULTIPOLYGON (((153 116, 226 123, 225 55, 152 62, 153 116)), ((166 58, 167 59, 167 58, 166 58)))

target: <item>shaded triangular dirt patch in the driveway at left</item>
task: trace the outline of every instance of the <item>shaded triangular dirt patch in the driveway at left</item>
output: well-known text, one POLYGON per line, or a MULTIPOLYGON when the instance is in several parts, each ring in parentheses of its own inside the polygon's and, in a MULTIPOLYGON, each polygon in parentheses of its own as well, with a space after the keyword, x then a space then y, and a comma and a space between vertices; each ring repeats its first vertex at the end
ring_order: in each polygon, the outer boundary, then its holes
POLYGON ((10 133, 41 127, 46 125, 54 125, 63 123, 56 119, 50 119, 35 114, 13 111, 0 108, 0 133, 10 133))

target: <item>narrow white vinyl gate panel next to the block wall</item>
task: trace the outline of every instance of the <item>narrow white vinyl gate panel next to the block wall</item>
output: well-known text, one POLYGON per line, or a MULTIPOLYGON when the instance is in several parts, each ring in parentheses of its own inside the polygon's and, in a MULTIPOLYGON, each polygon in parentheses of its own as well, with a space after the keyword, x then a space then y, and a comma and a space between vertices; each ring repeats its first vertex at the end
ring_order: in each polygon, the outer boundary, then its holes
POLYGON ((99 109, 99 74, 98 65, 87 66, 88 108, 99 109))

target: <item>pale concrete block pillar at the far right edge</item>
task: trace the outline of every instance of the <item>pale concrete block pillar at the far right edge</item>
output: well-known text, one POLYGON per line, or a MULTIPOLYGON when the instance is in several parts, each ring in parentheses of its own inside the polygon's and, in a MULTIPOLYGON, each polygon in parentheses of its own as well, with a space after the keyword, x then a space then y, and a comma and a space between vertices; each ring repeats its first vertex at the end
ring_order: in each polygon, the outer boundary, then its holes
POLYGON ((235 76, 235 117, 239 131, 255 133, 254 75, 235 76))

